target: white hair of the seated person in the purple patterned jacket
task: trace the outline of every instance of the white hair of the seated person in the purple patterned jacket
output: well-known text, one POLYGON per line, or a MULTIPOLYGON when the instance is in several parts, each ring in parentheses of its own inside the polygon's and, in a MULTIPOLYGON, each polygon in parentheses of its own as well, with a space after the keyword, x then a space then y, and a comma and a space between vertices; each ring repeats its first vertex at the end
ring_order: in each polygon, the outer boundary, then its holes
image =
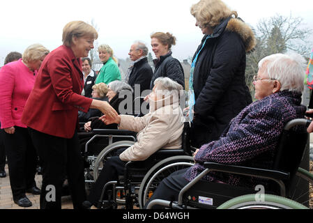
POLYGON ((306 61, 300 54, 272 54, 259 61, 259 68, 262 66, 266 66, 269 78, 280 82, 280 91, 303 92, 306 61))

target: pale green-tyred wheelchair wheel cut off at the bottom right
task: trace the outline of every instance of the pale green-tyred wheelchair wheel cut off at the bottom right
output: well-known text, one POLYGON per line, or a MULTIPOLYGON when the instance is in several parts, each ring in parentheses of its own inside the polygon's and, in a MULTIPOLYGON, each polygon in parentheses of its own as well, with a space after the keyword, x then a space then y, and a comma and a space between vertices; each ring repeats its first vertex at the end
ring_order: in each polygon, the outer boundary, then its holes
POLYGON ((271 194, 264 194, 264 201, 256 201, 256 194, 235 197, 217 209, 309 209, 302 204, 271 194))

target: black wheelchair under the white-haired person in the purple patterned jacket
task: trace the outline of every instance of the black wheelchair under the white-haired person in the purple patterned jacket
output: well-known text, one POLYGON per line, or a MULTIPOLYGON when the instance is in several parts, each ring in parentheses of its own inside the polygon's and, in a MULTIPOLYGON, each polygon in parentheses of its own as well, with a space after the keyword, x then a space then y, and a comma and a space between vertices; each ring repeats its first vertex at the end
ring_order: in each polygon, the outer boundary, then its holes
POLYGON ((178 201, 155 199, 148 203, 147 208, 156 205, 172 209, 312 208, 309 183, 312 187, 313 174, 305 170, 309 163, 306 160, 309 152, 305 149, 308 125, 310 121, 300 118, 284 126, 271 169, 205 162, 206 169, 183 187, 178 201), (300 164, 304 164, 305 169, 299 167, 300 164), (247 188, 201 180, 211 171, 268 179, 270 184, 266 190, 257 192, 255 189, 259 185, 247 188))

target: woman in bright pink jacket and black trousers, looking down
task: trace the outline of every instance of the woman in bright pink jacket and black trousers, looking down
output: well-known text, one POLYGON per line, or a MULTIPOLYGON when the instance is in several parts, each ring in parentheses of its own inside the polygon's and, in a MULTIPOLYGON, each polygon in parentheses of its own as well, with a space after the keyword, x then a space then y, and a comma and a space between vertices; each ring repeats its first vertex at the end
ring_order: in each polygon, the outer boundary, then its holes
POLYGON ((33 83, 49 50, 40 44, 25 49, 22 59, 6 64, 0 70, 1 137, 8 158, 13 201, 22 207, 31 206, 26 192, 40 194, 36 187, 36 149, 31 143, 22 112, 33 83))

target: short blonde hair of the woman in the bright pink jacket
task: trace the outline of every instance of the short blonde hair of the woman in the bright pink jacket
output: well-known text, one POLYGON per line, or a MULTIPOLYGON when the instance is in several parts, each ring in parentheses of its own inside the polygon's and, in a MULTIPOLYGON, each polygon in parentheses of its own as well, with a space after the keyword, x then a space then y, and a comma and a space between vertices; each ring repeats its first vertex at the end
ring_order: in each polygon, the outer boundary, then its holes
POLYGON ((33 44, 27 47, 22 55, 22 60, 25 63, 40 60, 43 56, 49 54, 49 49, 41 44, 33 44))

